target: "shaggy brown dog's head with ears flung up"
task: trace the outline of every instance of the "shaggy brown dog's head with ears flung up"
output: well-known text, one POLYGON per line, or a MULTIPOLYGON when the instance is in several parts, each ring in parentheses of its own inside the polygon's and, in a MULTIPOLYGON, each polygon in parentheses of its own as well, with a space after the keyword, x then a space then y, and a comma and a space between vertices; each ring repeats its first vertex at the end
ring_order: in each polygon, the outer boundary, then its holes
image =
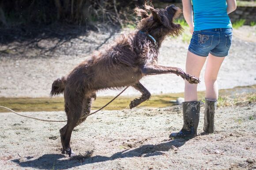
POLYGON ((152 5, 145 3, 144 9, 136 7, 135 13, 141 17, 137 29, 148 33, 153 32, 152 34, 163 34, 163 36, 178 36, 182 32, 181 25, 173 23, 173 19, 181 14, 181 9, 174 5, 165 9, 154 9, 152 5))

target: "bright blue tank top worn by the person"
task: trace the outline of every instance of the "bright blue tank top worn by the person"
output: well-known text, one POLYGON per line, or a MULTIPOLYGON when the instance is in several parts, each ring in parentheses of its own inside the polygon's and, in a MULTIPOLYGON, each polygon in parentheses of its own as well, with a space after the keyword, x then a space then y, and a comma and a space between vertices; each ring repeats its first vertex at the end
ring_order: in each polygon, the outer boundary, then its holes
POLYGON ((226 0, 192 0, 194 30, 232 28, 226 0))

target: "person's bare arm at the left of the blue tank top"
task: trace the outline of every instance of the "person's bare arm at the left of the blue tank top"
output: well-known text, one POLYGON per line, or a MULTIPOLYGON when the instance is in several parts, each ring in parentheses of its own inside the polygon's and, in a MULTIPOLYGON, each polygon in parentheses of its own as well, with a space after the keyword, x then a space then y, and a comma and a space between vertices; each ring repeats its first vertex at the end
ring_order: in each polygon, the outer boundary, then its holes
POLYGON ((183 15, 188 23, 190 33, 193 34, 194 32, 194 22, 193 22, 193 14, 192 14, 192 4, 191 0, 182 0, 182 5, 183 5, 183 15))

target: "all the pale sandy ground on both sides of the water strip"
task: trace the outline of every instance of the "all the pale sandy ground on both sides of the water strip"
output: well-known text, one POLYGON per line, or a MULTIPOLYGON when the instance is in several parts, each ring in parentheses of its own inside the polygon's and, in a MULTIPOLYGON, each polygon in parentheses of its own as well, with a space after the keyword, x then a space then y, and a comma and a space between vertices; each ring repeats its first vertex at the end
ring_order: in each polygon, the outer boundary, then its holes
MULTIPOLYGON (((242 27, 234 32, 230 55, 219 73, 220 88, 256 84, 255 29, 242 27)), ((64 43, 48 58, 34 58, 33 51, 28 51, 32 57, 0 56, 0 97, 49 96, 53 80, 119 34, 91 32, 64 43)), ((42 41, 38 45, 51 44, 42 41)), ((162 44, 159 64, 184 69, 187 47, 181 37, 168 38, 162 44)), ((203 82, 203 72, 201 78, 203 82)), ((183 80, 175 75, 148 76, 142 83, 152 94, 184 89, 183 80)), ((204 84, 198 89, 204 90, 204 84)), ((107 90, 99 95, 117 93, 107 90)), ((130 88, 124 93, 128 94, 139 93, 130 88)), ((203 132, 203 110, 199 134, 203 132)), ((66 119, 64 112, 23 114, 66 119)), ((255 103, 218 109, 215 134, 201 134, 189 141, 169 140, 170 132, 182 126, 181 106, 101 111, 72 134, 71 145, 77 154, 93 153, 73 159, 60 154, 58 131, 65 123, 45 123, 13 113, 0 116, 0 169, 256 169, 255 103)))

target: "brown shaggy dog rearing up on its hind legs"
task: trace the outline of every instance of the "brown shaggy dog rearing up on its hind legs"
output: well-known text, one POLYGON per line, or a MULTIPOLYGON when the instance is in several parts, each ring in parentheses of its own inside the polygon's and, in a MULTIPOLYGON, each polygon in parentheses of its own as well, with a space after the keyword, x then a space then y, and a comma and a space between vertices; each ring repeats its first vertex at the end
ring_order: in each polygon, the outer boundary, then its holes
POLYGON ((53 82, 51 95, 64 92, 68 117, 67 124, 60 129, 62 153, 74 154, 70 148, 72 130, 86 119, 81 117, 90 113, 92 98, 96 98, 98 90, 134 87, 142 96, 131 101, 132 109, 151 97, 139 82, 143 76, 174 73, 189 83, 200 82, 179 68, 157 65, 159 48, 165 37, 178 36, 182 32, 181 25, 173 23, 181 10, 174 5, 154 9, 145 4, 144 9, 137 7, 135 12, 141 20, 134 33, 120 36, 104 52, 83 61, 67 76, 53 82))

